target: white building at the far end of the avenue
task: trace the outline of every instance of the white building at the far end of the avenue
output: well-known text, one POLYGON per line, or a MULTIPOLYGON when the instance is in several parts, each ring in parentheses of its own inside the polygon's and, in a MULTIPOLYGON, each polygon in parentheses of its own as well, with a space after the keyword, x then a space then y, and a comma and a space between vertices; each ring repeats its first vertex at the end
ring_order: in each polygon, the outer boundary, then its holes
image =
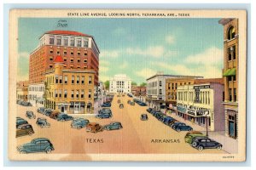
POLYGON ((109 93, 130 94, 131 79, 125 74, 115 75, 109 80, 109 93))

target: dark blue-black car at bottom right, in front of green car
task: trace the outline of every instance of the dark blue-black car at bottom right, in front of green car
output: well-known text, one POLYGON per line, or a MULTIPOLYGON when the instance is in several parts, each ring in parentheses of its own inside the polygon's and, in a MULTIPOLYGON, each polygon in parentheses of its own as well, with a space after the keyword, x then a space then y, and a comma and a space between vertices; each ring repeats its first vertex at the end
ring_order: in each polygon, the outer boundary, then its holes
POLYGON ((198 150, 204 150, 204 149, 222 149, 222 144, 219 144, 217 141, 212 139, 195 139, 192 143, 192 146, 197 148, 198 150))

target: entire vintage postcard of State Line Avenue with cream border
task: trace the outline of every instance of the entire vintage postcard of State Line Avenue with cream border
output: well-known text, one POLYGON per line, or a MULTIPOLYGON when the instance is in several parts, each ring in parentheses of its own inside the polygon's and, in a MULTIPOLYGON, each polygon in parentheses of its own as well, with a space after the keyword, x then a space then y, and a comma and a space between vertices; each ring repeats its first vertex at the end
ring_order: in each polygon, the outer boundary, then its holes
POLYGON ((247 13, 13 9, 9 159, 245 161, 247 13))

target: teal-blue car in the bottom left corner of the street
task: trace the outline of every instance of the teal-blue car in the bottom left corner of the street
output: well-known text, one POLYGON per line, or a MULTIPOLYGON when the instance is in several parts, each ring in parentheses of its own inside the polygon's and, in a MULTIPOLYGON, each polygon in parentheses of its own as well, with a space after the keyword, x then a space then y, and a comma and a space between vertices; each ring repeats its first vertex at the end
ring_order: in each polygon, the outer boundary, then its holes
POLYGON ((49 139, 45 138, 38 138, 32 139, 30 143, 22 144, 17 147, 17 150, 21 154, 26 153, 35 153, 35 152, 46 152, 50 153, 54 149, 53 144, 49 141, 49 139))

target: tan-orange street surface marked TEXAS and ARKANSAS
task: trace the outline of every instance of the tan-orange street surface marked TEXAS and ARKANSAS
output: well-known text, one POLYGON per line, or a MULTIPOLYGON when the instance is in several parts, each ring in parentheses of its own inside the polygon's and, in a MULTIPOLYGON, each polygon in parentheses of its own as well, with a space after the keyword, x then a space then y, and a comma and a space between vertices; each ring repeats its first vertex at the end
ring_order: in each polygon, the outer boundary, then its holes
POLYGON ((71 122, 57 122, 37 112, 35 107, 25 107, 17 105, 18 115, 27 120, 35 131, 32 136, 22 136, 17 138, 18 144, 25 144, 35 138, 47 138, 54 145, 56 153, 226 153, 224 150, 208 149, 196 150, 184 142, 184 136, 187 132, 176 132, 171 127, 167 127, 159 122, 154 116, 149 114, 147 106, 128 105, 127 100, 132 99, 127 95, 125 97, 114 96, 111 110, 113 117, 110 119, 97 119, 88 117, 90 122, 99 122, 100 125, 107 125, 110 122, 121 122, 123 128, 120 130, 107 131, 99 133, 87 133, 85 128, 72 128, 71 122), (124 109, 119 109, 117 100, 120 99, 124 104, 124 109), (36 119, 28 119, 26 111, 33 111, 36 119), (141 121, 140 115, 148 114, 148 121, 141 121), (38 117, 44 117, 50 123, 50 127, 39 127, 36 124, 38 117))

